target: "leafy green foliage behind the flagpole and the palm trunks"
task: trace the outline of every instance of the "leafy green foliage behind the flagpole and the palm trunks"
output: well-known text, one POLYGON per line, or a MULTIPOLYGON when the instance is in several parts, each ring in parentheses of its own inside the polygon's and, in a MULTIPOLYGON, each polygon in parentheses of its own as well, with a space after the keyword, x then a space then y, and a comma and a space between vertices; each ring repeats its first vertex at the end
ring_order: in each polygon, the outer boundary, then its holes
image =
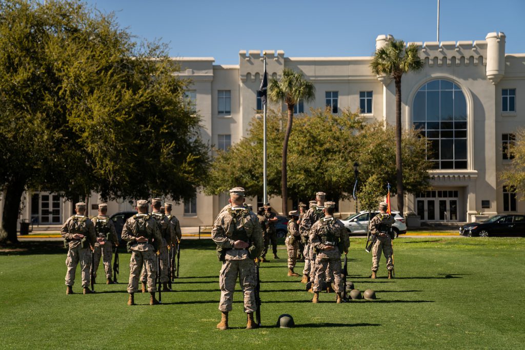
MULTIPOLYGON (((267 118, 268 194, 280 194, 280 147, 283 114, 269 111, 267 118)), ((292 198, 306 200, 323 190, 328 199, 348 199, 354 185, 353 163, 360 164, 360 187, 372 199, 386 195, 386 183, 395 193, 394 129, 382 123, 365 124, 358 113, 343 110, 334 115, 329 110, 311 110, 311 115, 295 118, 290 135, 288 156, 288 191, 292 198)), ((425 161, 425 139, 416 132, 403 133, 403 162, 407 192, 426 189, 429 183, 425 161)), ((248 136, 217 152, 209 181, 208 194, 219 194, 234 186, 243 186, 248 196, 262 194, 262 120, 254 119, 248 136)), ((361 195, 361 196, 364 196, 361 195)), ((360 196, 360 200, 363 198, 360 196)), ((377 201, 374 207, 377 206, 377 201)))

